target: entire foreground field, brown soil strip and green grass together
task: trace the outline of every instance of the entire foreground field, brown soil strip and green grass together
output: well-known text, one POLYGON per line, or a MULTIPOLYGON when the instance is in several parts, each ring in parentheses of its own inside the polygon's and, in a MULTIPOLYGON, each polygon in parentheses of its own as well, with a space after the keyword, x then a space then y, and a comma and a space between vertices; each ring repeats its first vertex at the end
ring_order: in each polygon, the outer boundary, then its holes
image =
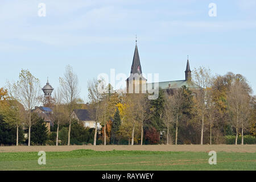
POLYGON ((256 145, 0 147, 0 170, 256 170, 256 145), (217 152, 210 165, 209 151, 217 152), (39 151, 46 165, 38 164, 39 151))

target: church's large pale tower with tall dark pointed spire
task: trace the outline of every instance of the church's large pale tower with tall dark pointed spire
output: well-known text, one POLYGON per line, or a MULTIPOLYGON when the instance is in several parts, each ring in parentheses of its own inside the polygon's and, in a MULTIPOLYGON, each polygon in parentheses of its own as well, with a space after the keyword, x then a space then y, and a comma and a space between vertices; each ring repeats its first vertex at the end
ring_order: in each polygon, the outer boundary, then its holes
POLYGON ((127 93, 146 93, 146 81, 146 78, 142 76, 141 61, 139 60, 139 52, 136 40, 130 76, 126 79, 127 93))

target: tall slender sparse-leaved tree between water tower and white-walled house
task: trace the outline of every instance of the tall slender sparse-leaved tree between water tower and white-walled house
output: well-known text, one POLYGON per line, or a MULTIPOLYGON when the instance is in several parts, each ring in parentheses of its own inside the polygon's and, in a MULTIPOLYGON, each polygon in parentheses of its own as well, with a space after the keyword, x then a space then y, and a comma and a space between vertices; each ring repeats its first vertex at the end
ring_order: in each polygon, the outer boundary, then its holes
POLYGON ((69 114, 69 127, 68 127, 68 146, 70 145, 70 133, 71 133, 71 114, 75 109, 77 98, 79 97, 79 80, 77 75, 73 72, 71 65, 68 65, 65 69, 63 77, 60 77, 60 90, 63 95, 64 101, 68 106, 69 114))

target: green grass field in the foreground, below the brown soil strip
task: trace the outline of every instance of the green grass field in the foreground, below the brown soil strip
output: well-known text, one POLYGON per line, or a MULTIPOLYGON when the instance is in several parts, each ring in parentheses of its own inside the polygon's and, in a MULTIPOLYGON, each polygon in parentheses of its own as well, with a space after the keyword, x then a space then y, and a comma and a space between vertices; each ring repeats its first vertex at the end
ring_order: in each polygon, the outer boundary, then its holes
POLYGON ((38 158, 38 152, 2 152, 0 170, 256 170, 256 153, 247 152, 217 152, 216 165, 207 152, 46 152, 46 165, 38 158))

